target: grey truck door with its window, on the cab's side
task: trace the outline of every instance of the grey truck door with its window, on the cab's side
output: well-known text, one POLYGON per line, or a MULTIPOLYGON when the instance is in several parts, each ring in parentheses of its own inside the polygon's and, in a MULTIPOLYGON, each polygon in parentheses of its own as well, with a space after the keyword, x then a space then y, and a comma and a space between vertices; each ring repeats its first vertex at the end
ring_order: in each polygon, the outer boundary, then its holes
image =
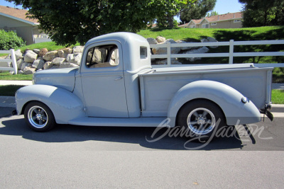
POLYGON ((84 103, 89 117, 129 118, 119 42, 97 42, 84 50, 81 62, 84 103))

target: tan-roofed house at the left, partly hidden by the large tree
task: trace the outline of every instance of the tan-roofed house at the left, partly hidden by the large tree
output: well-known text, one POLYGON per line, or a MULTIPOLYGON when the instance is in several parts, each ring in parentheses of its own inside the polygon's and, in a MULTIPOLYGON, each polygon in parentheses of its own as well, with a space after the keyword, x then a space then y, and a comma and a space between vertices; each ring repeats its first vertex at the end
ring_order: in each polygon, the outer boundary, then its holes
POLYGON ((27 10, 0 6, 0 30, 13 30, 26 41, 26 45, 36 42, 50 41, 45 34, 38 29, 38 21, 27 18, 27 10))

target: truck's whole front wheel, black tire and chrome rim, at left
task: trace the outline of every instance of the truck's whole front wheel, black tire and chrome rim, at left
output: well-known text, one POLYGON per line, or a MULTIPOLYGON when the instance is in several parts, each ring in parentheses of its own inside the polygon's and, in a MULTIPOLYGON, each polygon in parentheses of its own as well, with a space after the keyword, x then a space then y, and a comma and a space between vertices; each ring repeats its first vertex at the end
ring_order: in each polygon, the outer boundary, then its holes
POLYGON ((50 108, 40 102, 28 103, 24 115, 28 127, 37 132, 46 132, 56 125, 54 115, 50 108))

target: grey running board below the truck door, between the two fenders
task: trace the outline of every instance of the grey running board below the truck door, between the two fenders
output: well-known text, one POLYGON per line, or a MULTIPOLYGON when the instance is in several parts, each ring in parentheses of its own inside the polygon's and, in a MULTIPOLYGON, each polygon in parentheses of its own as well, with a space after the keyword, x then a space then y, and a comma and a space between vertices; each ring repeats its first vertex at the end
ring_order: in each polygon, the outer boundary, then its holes
POLYGON ((70 125, 84 126, 114 126, 114 127, 158 127, 165 126, 163 118, 77 118, 70 120, 70 125))

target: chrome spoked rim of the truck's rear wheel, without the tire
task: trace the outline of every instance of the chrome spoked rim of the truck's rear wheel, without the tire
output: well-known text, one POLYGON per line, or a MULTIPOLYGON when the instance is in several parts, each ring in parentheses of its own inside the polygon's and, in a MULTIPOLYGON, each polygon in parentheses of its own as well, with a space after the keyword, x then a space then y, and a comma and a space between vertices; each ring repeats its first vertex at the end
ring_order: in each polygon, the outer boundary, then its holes
POLYGON ((187 126, 195 134, 208 134, 215 125, 215 116, 207 108, 196 108, 187 116, 187 126))

